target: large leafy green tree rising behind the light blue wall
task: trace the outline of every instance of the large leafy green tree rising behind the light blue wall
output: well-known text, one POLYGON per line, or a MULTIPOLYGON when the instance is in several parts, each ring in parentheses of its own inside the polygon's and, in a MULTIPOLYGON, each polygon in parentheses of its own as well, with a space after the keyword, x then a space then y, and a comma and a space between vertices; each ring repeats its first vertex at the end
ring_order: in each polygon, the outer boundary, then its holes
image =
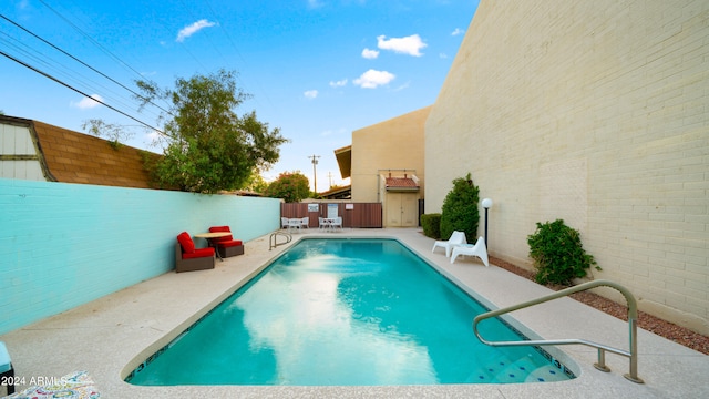
POLYGON ((268 129, 251 111, 235 110, 249 98, 237 88, 235 72, 177 79, 175 89, 138 81, 143 106, 155 100, 169 104, 164 121, 164 156, 148 170, 160 186, 195 193, 244 187, 254 170, 278 161, 286 142, 278 127, 268 129))

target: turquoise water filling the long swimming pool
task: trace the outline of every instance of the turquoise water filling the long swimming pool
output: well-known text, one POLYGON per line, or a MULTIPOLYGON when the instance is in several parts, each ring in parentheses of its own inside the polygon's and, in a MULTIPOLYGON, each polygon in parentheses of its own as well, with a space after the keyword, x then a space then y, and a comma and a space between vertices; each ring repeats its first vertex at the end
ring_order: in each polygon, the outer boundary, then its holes
MULTIPOLYGON (((532 347, 481 344, 486 311, 393 239, 302 239, 152 356, 134 385, 378 386, 559 381, 532 347)), ((524 339, 497 320, 486 337, 524 339)))

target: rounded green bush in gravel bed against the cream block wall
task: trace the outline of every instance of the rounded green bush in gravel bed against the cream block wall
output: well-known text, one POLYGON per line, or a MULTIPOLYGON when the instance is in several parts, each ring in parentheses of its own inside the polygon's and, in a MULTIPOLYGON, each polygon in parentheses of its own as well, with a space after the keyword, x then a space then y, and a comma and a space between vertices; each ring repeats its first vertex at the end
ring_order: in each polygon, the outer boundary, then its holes
POLYGON ((584 250, 580 233, 562 219, 537 222, 536 232, 527 236, 527 244, 536 268, 534 278, 540 284, 569 286, 574 278, 586 277, 590 266, 600 270, 594 257, 584 250))

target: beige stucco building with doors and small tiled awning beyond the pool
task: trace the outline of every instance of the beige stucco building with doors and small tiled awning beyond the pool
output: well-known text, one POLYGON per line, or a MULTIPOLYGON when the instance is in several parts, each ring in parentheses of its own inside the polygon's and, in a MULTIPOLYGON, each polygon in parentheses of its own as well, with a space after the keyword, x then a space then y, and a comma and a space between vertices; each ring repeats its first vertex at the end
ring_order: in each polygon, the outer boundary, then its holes
POLYGON ((431 106, 352 132, 352 144, 336 150, 352 202, 382 203, 384 227, 419 225, 425 190, 423 129, 431 106))

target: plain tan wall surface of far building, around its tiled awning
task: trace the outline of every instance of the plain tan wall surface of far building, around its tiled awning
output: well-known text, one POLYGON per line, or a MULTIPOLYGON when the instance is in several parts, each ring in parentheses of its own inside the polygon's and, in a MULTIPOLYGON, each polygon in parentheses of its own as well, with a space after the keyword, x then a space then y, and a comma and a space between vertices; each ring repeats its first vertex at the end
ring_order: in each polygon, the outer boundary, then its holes
POLYGON ((352 132, 353 202, 383 200, 378 197, 381 170, 392 170, 392 176, 397 177, 403 173, 400 170, 415 170, 423 196, 423 127, 430 111, 431 106, 427 106, 352 132))

